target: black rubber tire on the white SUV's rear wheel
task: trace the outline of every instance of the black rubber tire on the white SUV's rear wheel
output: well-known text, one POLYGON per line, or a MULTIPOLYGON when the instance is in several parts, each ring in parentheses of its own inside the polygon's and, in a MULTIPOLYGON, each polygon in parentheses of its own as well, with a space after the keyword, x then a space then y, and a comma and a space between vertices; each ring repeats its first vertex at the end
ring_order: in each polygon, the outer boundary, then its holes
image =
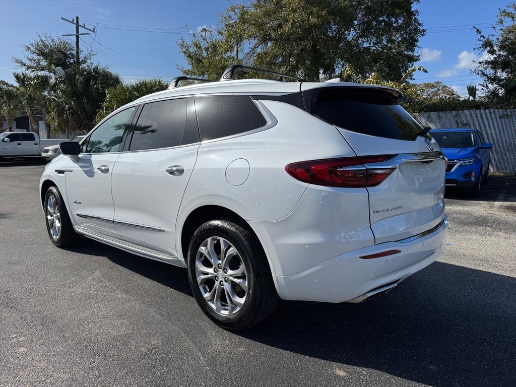
MULTIPOLYGON (((215 266, 213 268, 215 270, 215 266)), ((214 277, 214 286, 220 284, 221 288, 224 288, 223 281, 219 282, 216 275, 214 277)), ((272 313, 279 300, 260 241, 246 228, 231 219, 208 221, 193 234, 188 248, 188 280, 192 293, 204 314, 218 326, 229 330, 245 330, 258 324, 272 313), (247 292, 244 305, 230 316, 222 315, 210 306, 203 298, 197 283, 195 267, 197 253, 208 237, 221 237, 233 245, 247 271, 247 292)), ((221 297, 227 299, 227 295, 221 297)))

